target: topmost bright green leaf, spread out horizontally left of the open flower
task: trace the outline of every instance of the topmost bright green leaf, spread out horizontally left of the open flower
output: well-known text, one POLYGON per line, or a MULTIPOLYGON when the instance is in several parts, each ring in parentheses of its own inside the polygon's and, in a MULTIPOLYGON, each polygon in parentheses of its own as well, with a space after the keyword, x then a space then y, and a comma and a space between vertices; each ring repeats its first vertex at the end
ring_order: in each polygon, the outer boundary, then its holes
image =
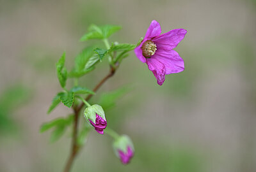
POLYGON ((119 25, 102 25, 97 26, 95 24, 90 25, 88 28, 88 33, 84 34, 80 41, 86 41, 89 39, 106 39, 111 36, 111 34, 122 29, 119 25))

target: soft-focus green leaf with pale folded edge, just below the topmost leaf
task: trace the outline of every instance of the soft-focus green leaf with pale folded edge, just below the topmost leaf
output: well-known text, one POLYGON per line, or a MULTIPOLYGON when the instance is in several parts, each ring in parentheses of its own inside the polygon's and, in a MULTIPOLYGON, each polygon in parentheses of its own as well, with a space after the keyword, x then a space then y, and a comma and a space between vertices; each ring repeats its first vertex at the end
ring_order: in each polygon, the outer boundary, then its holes
POLYGON ((75 59, 75 68, 68 73, 70 78, 78 78, 86 73, 89 73, 94 69, 95 64, 99 62, 99 57, 97 54, 93 53, 92 47, 84 48, 84 50, 77 55, 75 59))

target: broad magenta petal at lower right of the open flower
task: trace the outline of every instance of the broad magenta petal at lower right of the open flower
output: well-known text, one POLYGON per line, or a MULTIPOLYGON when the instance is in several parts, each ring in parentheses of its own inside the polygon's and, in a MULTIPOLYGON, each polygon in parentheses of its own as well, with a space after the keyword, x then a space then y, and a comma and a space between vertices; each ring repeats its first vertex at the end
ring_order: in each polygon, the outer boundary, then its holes
POLYGON ((151 58, 164 64, 166 75, 184 71, 184 61, 175 50, 157 50, 151 58))

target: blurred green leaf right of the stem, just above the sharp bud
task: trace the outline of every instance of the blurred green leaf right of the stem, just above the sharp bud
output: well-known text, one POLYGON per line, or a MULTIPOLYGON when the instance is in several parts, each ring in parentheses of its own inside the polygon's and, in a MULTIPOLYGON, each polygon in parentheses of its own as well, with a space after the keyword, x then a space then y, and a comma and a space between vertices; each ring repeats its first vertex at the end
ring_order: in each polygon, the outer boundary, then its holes
POLYGON ((127 87, 122 87, 118 90, 102 94, 99 100, 99 104, 102 106, 104 110, 113 108, 116 104, 116 101, 118 101, 120 97, 124 96, 129 90, 130 89, 127 87))

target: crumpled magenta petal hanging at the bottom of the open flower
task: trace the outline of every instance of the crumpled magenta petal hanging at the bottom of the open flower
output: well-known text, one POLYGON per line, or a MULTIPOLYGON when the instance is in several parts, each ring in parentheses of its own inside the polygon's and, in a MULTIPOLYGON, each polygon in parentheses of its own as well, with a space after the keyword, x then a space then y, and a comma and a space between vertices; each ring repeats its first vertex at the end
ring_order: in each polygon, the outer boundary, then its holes
POLYGON ((147 59, 146 63, 148 65, 148 69, 150 69, 150 71, 152 71, 154 76, 156 77, 157 83, 159 85, 163 85, 165 80, 164 64, 154 58, 147 59))

